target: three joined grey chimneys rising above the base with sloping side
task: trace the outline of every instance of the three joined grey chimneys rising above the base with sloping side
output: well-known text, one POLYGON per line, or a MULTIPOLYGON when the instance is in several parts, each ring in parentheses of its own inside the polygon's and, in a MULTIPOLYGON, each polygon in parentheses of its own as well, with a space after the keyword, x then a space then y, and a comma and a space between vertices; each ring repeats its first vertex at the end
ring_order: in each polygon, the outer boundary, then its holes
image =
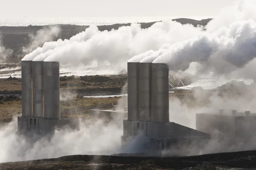
POLYGON ((169 67, 128 62, 128 120, 169 122, 169 67))

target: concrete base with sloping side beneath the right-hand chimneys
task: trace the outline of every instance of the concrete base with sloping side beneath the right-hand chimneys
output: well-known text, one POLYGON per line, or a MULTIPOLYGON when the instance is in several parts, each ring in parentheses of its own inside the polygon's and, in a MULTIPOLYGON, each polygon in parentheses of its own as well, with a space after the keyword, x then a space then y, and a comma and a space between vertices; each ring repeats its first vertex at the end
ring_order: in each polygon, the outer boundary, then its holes
POLYGON ((175 122, 156 123, 124 120, 123 125, 122 146, 131 142, 137 135, 147 137, 148 140, 143 141, 143 146, 150 150, 163 150, 177 144, 189 145, 193 142, 200 147, 201 144, 210 139, 210 135, 207 133, 175 122))

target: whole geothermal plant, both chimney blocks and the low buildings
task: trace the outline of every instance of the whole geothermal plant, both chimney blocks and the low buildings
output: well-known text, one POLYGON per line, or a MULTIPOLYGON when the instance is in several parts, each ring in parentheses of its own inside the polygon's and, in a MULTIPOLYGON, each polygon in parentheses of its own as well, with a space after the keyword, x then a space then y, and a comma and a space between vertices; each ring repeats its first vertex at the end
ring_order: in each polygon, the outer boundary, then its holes
MULTIPOLYGON (((197 113, 196 129, 169 121, 169 67, 164 63, 128 62, 128 106, 124 110, 91 110, 91 121, 100 117, 111 119, 122 115, 125 146, 136 136, 143 136, 143 146, 163 150, 174 144, 207 144, 215 130, 224 136, 248 138, 256 133, 256 114, 197 113), (95 116, 96 115, 96 116, 95 116), (106 116, 107 115, 107 116, 106 116)), ((64 128, 67 120, 60 118, 59 63, 21 61, 22 116, 18 117, 17 134, 26 136, 53 134, 64 128)), ((179 114, 179 113, 172 113, 179 114)), ((184 145, 183 145, 184 146, 184 145)))

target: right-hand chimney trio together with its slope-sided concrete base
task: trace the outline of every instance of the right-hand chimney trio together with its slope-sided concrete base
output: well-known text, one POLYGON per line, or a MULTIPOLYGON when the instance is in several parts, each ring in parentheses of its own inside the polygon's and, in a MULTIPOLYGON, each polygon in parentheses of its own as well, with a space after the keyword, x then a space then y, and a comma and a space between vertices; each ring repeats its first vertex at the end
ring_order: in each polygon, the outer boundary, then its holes
POLYGON ((128 119, 123 122, 122 145, 135 136, 148 149, 209 139, 209 134, 169 122, 169 67, 163 63, 128 62, 128 119))

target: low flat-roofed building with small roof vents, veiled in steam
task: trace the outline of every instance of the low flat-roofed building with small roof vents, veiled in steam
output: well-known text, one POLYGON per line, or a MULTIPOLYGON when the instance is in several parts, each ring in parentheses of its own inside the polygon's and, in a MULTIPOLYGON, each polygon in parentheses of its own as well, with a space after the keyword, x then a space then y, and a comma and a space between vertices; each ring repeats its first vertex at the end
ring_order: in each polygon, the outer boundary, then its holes
POLYGON ((218 137, 225 136, 230 140, 250 139, 256 135, 256 114, 236 110, 219 110, 218 113, 196 113, 196 129, 218 137))

